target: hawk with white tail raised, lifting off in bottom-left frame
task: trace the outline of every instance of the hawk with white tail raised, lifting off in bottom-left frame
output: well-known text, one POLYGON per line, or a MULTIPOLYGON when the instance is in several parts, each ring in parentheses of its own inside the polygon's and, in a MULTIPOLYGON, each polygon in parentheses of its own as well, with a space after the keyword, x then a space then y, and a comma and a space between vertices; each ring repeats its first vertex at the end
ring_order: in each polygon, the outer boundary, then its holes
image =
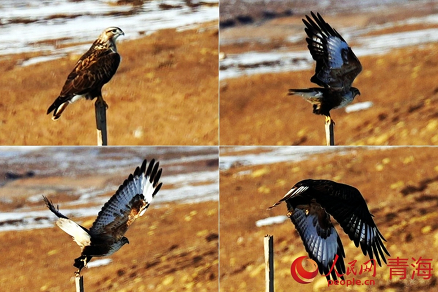
POLYGON ((62 215, 52 201, 43 196, 50 211, 59 217, 56 225, 71 235, 81 247, 81 256, 73 264, 79 269, 77 274, 87 267, 91 257, 110 256, 129 243, 128 238, 124 237, 125 232, 135 219, 145 213, 163 184, 158 184, 162 172, 162 168, 158 169, 160 163, 155 164, 152 159, 147 169, 146 164, 145 160, 141 167, 137 166, 134 174, 130 174, 110 201, 105 203, 90 230, 62 215))

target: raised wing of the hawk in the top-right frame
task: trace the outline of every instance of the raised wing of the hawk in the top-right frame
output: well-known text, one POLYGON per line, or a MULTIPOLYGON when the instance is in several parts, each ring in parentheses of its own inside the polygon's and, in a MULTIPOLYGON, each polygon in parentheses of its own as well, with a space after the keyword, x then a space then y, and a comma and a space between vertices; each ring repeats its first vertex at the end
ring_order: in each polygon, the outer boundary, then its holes
POLYGON ((308 37, 306 41, 316 61, 315 74, 310 81, 326 88, 346 92, 362 71, 359 59, 341 35, 319 13, 303 19, 308 37))

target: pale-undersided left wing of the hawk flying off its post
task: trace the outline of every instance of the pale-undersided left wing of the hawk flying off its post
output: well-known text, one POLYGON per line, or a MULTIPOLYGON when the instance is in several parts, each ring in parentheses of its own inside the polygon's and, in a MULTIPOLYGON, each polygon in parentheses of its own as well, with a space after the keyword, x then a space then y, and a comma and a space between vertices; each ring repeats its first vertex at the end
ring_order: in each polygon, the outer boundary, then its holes
MULTIPOLYGON (((338 255, 336 271, 341 274, 341 279, 344 279, 342 276, 346 272, 344 247, 333 225, 330 223, 329 226, 321 226, 317 214, 309 211, 306 214, 305 210, 293 208, 290 204, 288 209, 291 214, 289 218, 303 240, 309 257, 316 261, 319 273, 328 275, 333 259, 338 255)), ((328 216, 323 219, 329 220, 328 216)), ((334 269, 331 271, 333 280, 337 279, 336 271, 334 269)), ((330 280, 330 275, 327 276, 327 280, 330 280)))

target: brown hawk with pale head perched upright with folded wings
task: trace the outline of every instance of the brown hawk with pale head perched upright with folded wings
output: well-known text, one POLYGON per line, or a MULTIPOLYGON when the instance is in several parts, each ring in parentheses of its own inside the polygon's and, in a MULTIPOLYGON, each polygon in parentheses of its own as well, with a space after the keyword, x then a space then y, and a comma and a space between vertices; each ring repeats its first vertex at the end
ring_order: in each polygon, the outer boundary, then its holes
POLYGON ((57 120, 61 113, 76 100, 84 97, 107 104, 102 98, 102 86, 111 80, 120 64, 115 41, 125 33, 118 27, 109 27, 93 42, 91 48, 77 61, 72 73, 67 77, 61 93, 47 110, 53 111, 52 120, 57 120))

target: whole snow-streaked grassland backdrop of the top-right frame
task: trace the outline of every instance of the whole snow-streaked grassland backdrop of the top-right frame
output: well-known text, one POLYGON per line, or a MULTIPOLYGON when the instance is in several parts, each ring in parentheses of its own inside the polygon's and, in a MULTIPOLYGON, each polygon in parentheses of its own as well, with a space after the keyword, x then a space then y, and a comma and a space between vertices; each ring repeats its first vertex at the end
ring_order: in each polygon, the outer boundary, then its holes
POLYGON ((221 0, 220 144, 324 145, 324 118, 286 95, 316 86, 302 22, 310 11, 363 65, 361 95, 331 112, 335 143, 437 145, 435 0, 221 0))

